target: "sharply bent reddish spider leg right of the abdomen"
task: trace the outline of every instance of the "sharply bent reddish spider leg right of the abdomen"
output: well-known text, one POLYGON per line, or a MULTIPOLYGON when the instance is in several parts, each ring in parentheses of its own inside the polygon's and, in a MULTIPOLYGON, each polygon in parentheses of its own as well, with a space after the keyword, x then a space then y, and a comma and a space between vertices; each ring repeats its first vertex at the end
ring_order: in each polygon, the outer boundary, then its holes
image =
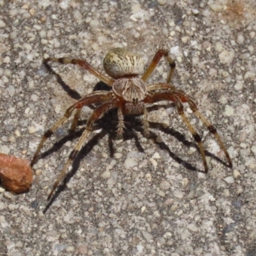
POLYGON ((145 71, 145 73, 143 74, 143 76, 141 77, 141 79, 146 82, 148 80, 148 78, 151 76, 151 74, 154 72, 155 68, 156 68, 156 65, 157 63, 161 60, 162 57, 165 57, 166 60, 168 61, 169 63, 169 66, 171 68, 170 72, 169 72, 169 75, 167 77, 167 83, 170 83, 171 80, 172 80, 172 77, 173 77, 173 73, 174 73, 174 70, 175 70, 175 61, 172 60, 172 58, 169 56, 169 53, 168 51, 166 50, 163 50, 163 49, 159 49, 153 60, 151 61, 149 67, 147 68, 147 70, 145 71))

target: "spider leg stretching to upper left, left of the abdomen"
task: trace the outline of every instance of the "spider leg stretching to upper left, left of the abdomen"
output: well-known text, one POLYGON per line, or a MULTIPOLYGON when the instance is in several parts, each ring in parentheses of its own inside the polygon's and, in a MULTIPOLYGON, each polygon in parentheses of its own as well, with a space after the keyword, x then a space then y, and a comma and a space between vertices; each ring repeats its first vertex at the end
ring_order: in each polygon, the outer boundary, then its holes
POLYGON ((95 68, 93 68, 88 62, 85 60, 78 60, 78 59, 69 59, 69 58, 47 58, 44 60, 45 63, 48 63, 49 61, 52 62, 58 62, 62 64, 73 64, 73 65, 79 65, 81 68, 84 68, 85 70, 88 70, 91 74, 93 74, 95 77, 99 78, 100 81, 108 84, 108 86, 112 86, 114 83, 114 80, 105 76, 95 68))

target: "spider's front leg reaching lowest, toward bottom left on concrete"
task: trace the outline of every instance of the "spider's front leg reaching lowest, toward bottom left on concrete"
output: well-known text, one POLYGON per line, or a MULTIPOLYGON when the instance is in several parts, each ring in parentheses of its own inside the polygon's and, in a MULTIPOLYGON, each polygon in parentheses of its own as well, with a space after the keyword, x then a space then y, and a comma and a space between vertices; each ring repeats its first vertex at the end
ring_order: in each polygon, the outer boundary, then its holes
POLYGON ((67 172, 68 166, 76 158, 79 150, 81 150, 81 147, 83 147, 85 141, 88 139, 90 133, 92 132, 92 127, 93 127, 95 120, 99 119, 100 116, 102 116, 104 113, 106 113, 106 111, 108 111, 111 108, 116 108, 116 103, 108 102, 108 103, 102 104, 101 106, 99 106, 99 108, 97 108, 97 109, 95 109, 95 111, 93 111, 92 115, 88 119, 86 128, 85 128, 81 138, 79 138, 79 141, 77 142, 76 146, 74 147, 72 152, 69 154, 68 161, 65 164, 65 166, 63 167, 60 175, 58 176, 58 179, 54 183, 54 186, 52 187, 51 193, 47 197, 47 200, 51 199, 51 196, 54 193, 54 191, 56 190, 56 188, 58 187, 60 180, 64 177, 65 173, 67 172))

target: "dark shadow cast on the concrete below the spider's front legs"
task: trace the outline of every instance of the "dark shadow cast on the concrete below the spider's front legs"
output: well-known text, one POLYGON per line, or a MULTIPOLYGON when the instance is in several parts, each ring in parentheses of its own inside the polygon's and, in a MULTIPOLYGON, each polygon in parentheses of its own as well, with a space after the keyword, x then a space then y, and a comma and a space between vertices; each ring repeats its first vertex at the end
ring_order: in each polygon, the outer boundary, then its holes
MULTIPOLYGON (((79 154, 77 155, 75 161, 72 162, 72 169, 70 170, 70 172, 68 172, 65 175, 65 178, 63 179, 63 182, 58 186, 58 188, 54 192, 54 195, 52 196, 51 200, 49 200, 49 202, 47 203, 47 205, 46 205, 46 207, 43 211, 44 214, 45 214, 45 212, 47 212, 49 207, 51 207, 54 200, 56 200, 56 198, 58 198, 60 193, 65 188, 67 188, 67 183, 76 174, 76 172, 77 172, 77 170, 80 166, 81 161, 84 159, 84 156, 87 156, 90 153, 90 151, 92 150, 92 148, 95 145, 98 144, 99 140, 102 140, 107 134, 108 134, 109 156, 113 157, 114 152, 115 152, 115 147, 114 147, 113 141, 115 141, 115 139, 116 139, 116 132, 115 131, 116 131, 117 122, 118 122, 118 116, 117 116, 116 109, 111 109, 111 111, 106 113, 104 116, 102 116, 102 118, 100 118, 99 120, 97 120, 95 122, 95 126, 93 127, 93 131, 98 130, 98 129, 102 129, 102 131, 95 134, 86 143, 86 145, 84 145, 83 148, 81 148, 81 150, 79 151, 79 154), (109 122, 109 120, 113 120, 113 122, 109 122), (106 125, 106 124, 108 124, 108 125, 106 125)), ((78 122, 78 127, 81 126, 81 125, 84 126, 85 124, 86 124, 86 120, 80 120, 78 122)), ((166 128, 166 127, 164 127, 163 124, 157 123, 157 122, 149 122, 149 125, 150 125, 150 129, 156 129, 156 130, 159 130, 159 131, 163 131, 164 133, 169 134, 169 135, 173 136, 174 138, 176 138, 178 141, 180 141, 186 147, 191 147, 191 146, 195 147, 196 150, 198 151, 198 154, 200 154, 200 149, 198 148, 197 145, 195 145, 195 142, 191 142, 191 141, 186 140, 185 136, 183 134, 181 134, 180 132, 175 131, 174 129, 172 129, 170 127, 166 128)), ((125 128, 126 129, 125 129, 124 138, 123 138, 124 141, 134 140, 136 148, 140 152, 144 152, 144 149, 143 149, 143 147, 140 143, 140 140, 139 140, 139 138, 136 134, 136 132, 140 132, 141 134, 143 134, 143 128, 142 128, 142 125, 141 125, 141 121, 138 120, 138 118, 134 115, 125 116, 125 128), (134 131, 134 132, 132 132, 132 131, 134 131)), ((70 134, 67 134, 67 136, 62 138, 60 141, 57 141, 56 143, 54 143, 52 148, 43 152, 41 154, 40 158, 45 158, 45 157, 49 156, 50 154, 60 150, 60 148, 67 141, 79 138, 81 136, 81 134, 83 133, 84 129, 85 128, 82 127, 81 129, 79 129, 76 132, 72 132, 70 134)), ((177 156, 177 154, 172 152, 170 150, 170 148, 168 147, 168 145, 166 145, 166 143, 164 143, 163 141, 158 143, 156 141, 157 136, 158 135, 156 133, 150 131, 150 135, 147 138, 153 139, 154 143, 156 143, 159 146, 159 148, 161 148, 163 150, 167 150, 169 156, 172 157, 172 159, 174 161, 176 161, 180 165, 184 166, 184 168, 186 168, 188 170, 191 170, 193 172, 205 173, 204 170, 199 170, 198 168, 196 168, 192 164, 188 163, 187 161, 184 161, 184 159, 177 156)), ((214 156, 213 154, 211 154, 207 150, 205 150, 205 154, 207 156, 210 156, 210 157, 214 158, 216 161, 219 161, 220 163, 224 164, 225 166, 228 166, 228 164, 226 164, 224 161, 222 161, 219 157, 214 156)))

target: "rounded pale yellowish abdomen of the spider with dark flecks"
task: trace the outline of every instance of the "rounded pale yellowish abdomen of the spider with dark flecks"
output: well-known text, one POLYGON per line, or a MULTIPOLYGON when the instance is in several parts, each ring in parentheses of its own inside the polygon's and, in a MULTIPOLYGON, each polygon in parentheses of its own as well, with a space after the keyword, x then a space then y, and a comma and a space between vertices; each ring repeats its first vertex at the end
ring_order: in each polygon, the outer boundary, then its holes
POLYGON ((118 79, 124 76, 138 76, 143 72, 144 62, 140 55, 123 48, 110 50, 103 61, 106 73, 118 79))

